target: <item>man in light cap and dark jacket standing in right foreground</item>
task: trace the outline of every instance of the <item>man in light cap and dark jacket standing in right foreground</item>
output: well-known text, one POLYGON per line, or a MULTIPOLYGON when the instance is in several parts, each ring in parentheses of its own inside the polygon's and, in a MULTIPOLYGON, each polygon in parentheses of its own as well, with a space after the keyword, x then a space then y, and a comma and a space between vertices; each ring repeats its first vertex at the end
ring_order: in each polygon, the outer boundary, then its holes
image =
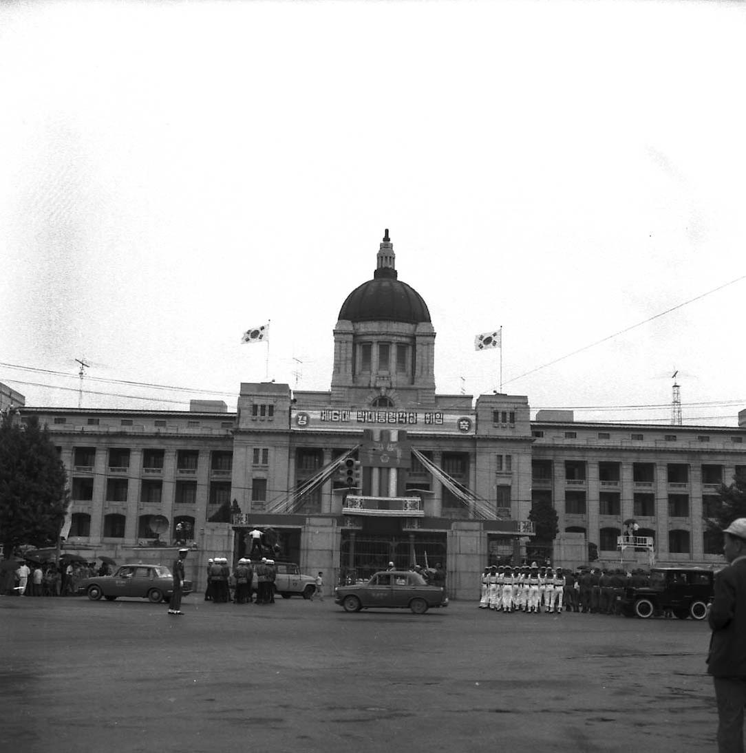
POLYGON ((708 620, 712 630, 707 671, 717 700, 717 748, 744 750, 746 706, 746 518, 725 530, 723 553, 729 565, 715 575, 715 596, 708 620))

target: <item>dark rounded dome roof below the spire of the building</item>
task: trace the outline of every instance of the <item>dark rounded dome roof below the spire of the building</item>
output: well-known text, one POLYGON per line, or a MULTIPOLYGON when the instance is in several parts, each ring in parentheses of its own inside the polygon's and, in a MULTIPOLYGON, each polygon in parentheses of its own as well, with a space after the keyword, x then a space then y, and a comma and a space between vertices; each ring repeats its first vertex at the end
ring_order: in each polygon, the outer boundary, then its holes
POLYGON ((430 312, 422 296, 406 282, 397 280, 394 270, 376 270, 374 279, 358 285, 347 296, 339 319, 419 324, 430 322, 430 312))

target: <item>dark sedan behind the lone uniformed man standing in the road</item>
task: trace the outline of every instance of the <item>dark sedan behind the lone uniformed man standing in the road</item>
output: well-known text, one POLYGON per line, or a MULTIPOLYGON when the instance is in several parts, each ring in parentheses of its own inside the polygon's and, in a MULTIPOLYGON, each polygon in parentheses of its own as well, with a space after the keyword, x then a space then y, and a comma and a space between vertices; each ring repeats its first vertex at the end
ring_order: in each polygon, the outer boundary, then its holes
MULTIPOLYGON (((154 604, 168 601, 174 587, 171 570, 165 565, 123 565, 114 575, 99 575, 78 582, 78 593, 98 601, 102 596, 113 602, 117 596, 148 599, 154 604)), ((192 581, 184 581, 184 596, 191 593, 192 581)))

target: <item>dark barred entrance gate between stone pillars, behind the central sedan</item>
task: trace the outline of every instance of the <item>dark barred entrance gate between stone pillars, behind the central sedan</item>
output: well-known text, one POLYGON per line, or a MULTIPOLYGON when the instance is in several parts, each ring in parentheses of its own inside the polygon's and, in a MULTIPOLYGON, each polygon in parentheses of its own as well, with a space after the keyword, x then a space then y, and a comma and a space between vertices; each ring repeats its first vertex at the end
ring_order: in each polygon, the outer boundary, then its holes
POLYGON ((445 533, 410 533, 401 535, 361 535, 343 532, 340 550, 340 582, 370 578, 388 568, 389 562, 401 570, 411 565, 434 567, 446 565, 445 533))

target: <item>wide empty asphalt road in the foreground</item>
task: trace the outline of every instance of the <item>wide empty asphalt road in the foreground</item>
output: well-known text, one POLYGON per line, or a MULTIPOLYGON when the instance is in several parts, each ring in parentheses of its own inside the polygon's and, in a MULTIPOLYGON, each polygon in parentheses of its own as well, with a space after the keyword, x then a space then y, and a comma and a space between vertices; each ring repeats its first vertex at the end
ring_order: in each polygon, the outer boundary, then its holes
POLYGON ((0 597, 0 751, 714 750, 706 623, 0 597))

